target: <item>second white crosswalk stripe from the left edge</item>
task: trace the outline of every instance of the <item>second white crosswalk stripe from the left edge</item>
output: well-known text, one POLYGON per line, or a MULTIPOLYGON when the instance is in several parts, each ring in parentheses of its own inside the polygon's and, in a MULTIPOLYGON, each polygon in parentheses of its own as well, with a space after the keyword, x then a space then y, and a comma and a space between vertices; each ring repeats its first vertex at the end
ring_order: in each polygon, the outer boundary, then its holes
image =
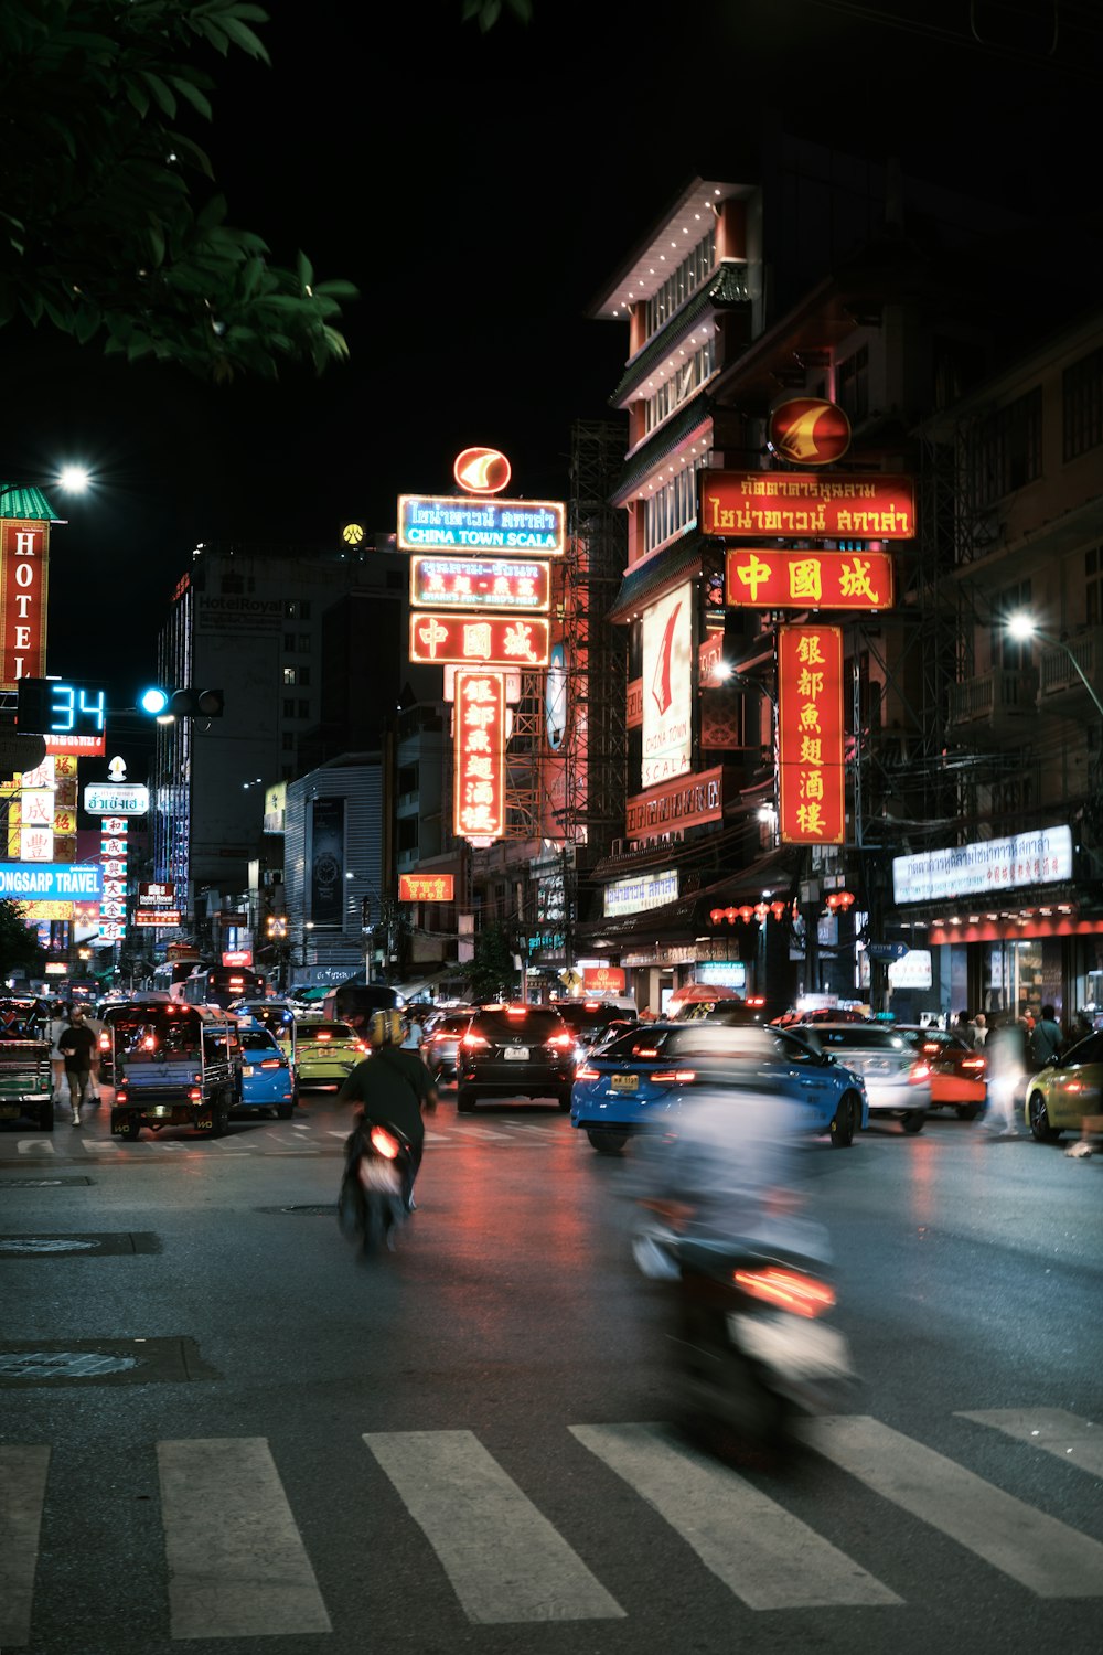
POLYGON ((157 1443, 174 1638, 331 1632, 263 1437, 157 1443))

